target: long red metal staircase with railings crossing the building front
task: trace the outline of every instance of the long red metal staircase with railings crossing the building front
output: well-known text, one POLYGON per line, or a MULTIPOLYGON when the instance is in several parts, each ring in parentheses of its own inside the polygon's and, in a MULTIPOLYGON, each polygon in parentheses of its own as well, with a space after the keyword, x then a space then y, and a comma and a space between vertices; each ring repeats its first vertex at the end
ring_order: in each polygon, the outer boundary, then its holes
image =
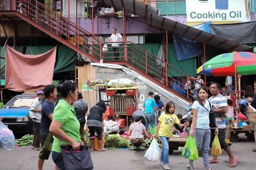
POLYGON ((115 63, 133 68, 134 71, 161 86, 161 88, 171 91, 178 98, 189 101, 188 91, 184 91, 186 78, 177 76, 180 80, 178 81, 177 78, 170 76, 170 72, 175 70, 175 72, 184 77, 188 75, 166 63, 163 59, 157 58, 154 54, 132 42, 122 42, 124 45, 120 47, 119 53, 121 55, 118 57, 119 60, 115 61, 113 52, 102 52, 103 40, 69 19, 62 17, 59 13, 45 7, 44 4, 35 1, 35 3, 28 3, 23 8, 20 8, 20 2, 14 2, 10 3, 9 8, 7 8, 9 10, 0 10, 0 15, 16 15, 45 34, 67 45, 70 49, 90 58, 95 63, 99 63, 100 59, 103 59, 104 63, 115 63), (177 86, 177 84, 180 84, 180 86, 177 86), (187 94, 186 97, 171 89, 170 86, 187 94))

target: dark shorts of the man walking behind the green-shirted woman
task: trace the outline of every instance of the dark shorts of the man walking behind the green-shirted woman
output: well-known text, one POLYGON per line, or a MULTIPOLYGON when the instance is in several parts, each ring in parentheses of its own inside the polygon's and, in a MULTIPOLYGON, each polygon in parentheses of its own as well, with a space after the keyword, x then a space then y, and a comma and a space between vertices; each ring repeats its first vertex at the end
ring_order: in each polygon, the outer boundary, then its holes
POLYGON ((40 143, 42 146, 42 149, 39 153, 39 158, 47 160, 51 154, 52 150, 52 134, 40 134, 40 143))

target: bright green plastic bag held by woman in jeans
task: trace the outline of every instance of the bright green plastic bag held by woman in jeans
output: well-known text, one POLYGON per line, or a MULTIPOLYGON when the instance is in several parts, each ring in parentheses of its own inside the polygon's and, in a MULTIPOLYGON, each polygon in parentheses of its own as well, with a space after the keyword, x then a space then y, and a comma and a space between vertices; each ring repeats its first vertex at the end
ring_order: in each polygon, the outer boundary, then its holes
POLYGON ((182 157, 188 158, 189 160, 198 159, 198 150, 196 148, 195 139, 192 135, 189 135, 188 141, 182 150, 182 157))

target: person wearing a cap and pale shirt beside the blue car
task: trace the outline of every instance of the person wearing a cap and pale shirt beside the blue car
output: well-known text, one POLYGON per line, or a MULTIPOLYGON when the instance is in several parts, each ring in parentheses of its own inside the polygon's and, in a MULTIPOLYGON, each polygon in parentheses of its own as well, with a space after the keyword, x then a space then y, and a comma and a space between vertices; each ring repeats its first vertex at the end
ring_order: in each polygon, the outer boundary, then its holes
POLYGON ((44 98, 44 91, 38 90, 36 91, 36 98, 33 100, 30 110, 29 110, 29 117, 33 121, 33 132, 34 132, 34 139, 33 139, 33 150, 40 150, 40 126, 41 126, 41 110, 42 105, 41 102, 44 98))

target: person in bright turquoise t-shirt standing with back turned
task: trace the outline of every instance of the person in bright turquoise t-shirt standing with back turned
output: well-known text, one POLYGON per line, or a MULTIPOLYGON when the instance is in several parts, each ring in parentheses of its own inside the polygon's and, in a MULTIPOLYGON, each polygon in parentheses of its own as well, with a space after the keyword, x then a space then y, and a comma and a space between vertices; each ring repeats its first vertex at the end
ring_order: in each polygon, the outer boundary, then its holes
POLYGON ((148 93, 148 98, 144 102, 144 114, 146 118, 146 129, 148 130, 149 124, 150 127, 156 126, 156 115, 157 115, 157 104, 154 100, 154 93, 150 91, 148 93))

